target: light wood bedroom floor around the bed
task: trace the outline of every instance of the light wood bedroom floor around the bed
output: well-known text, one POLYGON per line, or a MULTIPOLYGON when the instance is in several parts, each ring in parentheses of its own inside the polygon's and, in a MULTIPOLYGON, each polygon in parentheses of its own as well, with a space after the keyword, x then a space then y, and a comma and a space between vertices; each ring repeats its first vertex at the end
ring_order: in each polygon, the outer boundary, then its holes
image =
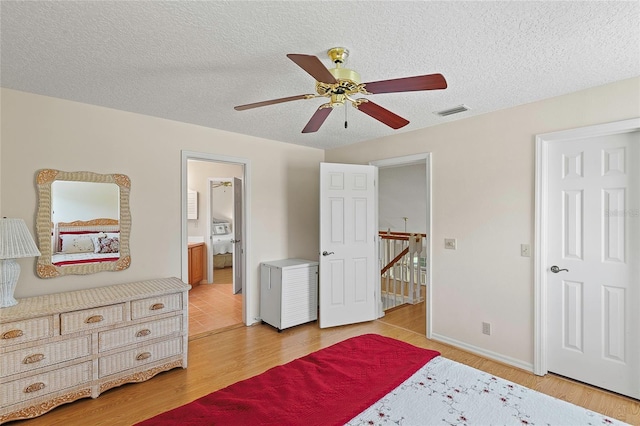
MULTIPOLYGON (((419 305, 396 309, 368 323, 320 329, 316 322, 278 333, 268 325, 200 334, 189 342, 189 368, 161 373, 153 379, 111 389, 97 399, 83 399, 56 408, 41 417, 16 422, 38 425, 131 425, 186 404, 217 389, 364 333, 378 333, 487 371, 523 386, 581 405, 630 424, 640 425, 640 402, 553 375, 538 377, 517 368, 427 340, 413 331, 419 305), (404 310, 403 310, 404 309, 404 310), (411 311, 414 311, 413 313, 411 311)), ((424 320, 422 320, 424 325, 424 320)))

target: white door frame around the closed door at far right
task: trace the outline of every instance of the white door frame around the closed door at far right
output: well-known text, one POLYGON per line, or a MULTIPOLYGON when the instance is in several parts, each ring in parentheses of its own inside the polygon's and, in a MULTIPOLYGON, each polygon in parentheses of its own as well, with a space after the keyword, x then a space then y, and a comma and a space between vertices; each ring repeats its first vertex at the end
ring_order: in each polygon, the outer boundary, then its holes
POLYGON ((548 147, 555 142, 640 131, 640 118, 536 135, 535 251, 533 261, 533 372, 547 374, 547 217, 548 147))

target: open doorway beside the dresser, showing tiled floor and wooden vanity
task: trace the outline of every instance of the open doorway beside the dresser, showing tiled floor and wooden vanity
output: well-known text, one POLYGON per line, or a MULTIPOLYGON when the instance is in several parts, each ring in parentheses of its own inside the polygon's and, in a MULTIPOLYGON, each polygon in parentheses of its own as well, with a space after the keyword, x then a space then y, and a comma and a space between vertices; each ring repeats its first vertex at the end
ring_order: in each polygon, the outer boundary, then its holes
POLYGON ((192 285, 190 338, 247 323, 242 236, 248 235, 248 173, 244 159, 182 152, 182 279, 192 285))

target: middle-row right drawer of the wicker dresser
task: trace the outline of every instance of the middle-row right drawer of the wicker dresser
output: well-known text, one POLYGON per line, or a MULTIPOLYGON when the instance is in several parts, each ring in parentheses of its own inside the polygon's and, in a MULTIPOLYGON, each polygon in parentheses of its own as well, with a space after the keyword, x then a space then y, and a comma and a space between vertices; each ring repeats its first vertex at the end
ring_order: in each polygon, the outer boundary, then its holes
POLYGON ((182 331, 182 315, 149 321, 116 330, 103 331, 98 335, 98 348, 100 352, 128 346, 132 343, 140 343, 146 340, 157 339, 182 331))

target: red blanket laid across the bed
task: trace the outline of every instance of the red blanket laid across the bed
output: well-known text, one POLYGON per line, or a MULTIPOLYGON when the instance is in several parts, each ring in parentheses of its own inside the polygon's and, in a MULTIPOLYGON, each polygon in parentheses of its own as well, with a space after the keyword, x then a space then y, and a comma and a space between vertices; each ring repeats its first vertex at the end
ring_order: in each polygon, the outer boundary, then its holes
POLYGON ((389 337, 365 334, 139 425, 341 425, 438 355, 389 337))

